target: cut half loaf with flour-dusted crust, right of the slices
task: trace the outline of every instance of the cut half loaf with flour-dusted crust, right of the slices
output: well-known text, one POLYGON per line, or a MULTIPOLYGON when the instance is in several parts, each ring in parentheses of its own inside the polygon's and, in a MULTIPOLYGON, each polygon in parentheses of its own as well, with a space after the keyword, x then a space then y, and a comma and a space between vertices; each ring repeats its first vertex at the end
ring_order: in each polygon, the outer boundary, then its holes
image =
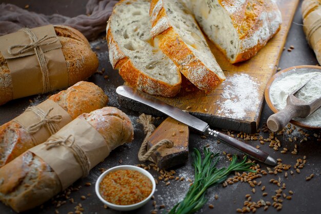
POLYGON ((231 63, 251 59, 282 22, 271 0, 192 0, 192 5, 200 27, 231 63))

